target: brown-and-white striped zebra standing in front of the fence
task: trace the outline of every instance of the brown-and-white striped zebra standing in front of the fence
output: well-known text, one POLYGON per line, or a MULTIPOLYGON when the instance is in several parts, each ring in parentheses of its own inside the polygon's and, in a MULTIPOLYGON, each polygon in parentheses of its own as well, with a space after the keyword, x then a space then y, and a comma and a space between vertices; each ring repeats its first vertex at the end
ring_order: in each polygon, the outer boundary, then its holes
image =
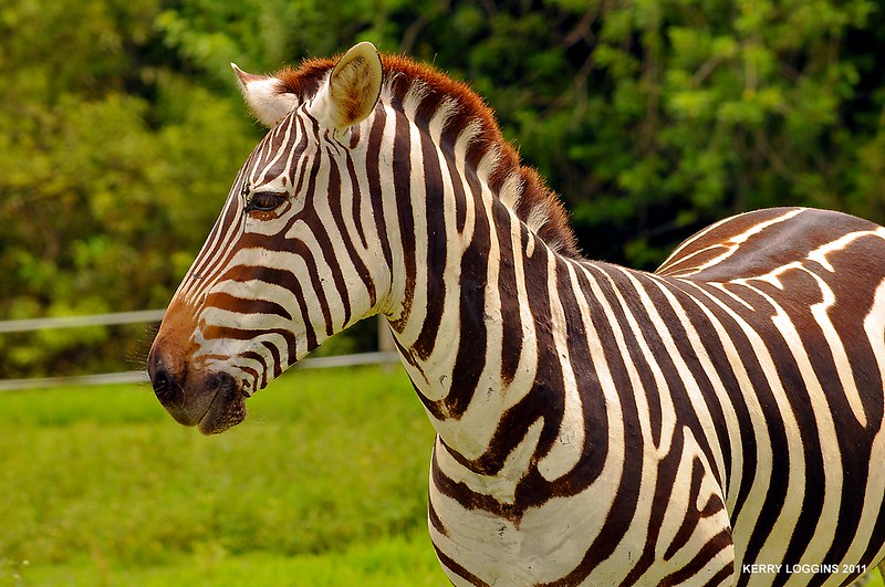
POLYGON ((367 316, 436 429, 454 585, 841 585, 885 556, 885 229, 742 213, 654 273, 584 259, 465 83, 360 43, 256 75, 270 128, 148 355, 218 433, 367 316))

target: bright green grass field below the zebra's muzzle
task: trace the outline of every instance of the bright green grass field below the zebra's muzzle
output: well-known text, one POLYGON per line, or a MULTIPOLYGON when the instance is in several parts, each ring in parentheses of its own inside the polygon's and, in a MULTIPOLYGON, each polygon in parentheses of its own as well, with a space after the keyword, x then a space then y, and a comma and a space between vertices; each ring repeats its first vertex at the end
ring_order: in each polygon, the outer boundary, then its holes
POLYGON ((218 437, 146 386, 0 396, 0 585, 447 585, 408 379, 299 371, 218 437))

